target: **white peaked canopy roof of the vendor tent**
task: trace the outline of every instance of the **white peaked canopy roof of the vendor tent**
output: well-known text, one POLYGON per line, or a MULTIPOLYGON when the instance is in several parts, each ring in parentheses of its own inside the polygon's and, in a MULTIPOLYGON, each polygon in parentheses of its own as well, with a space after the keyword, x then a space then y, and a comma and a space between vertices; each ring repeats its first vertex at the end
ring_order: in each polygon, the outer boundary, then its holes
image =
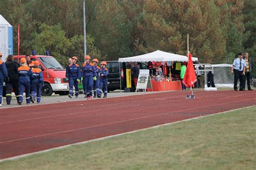
MULTIPOLYGON (((198 61, 198 58, 192 57, 193 61, 198 61)), ((163 51, 154 51, 143 55, 137 55, 127 58, 119 58, 118 62, 149 62, 149 61, 187 61, 187 56, 167 53, 163 51)))

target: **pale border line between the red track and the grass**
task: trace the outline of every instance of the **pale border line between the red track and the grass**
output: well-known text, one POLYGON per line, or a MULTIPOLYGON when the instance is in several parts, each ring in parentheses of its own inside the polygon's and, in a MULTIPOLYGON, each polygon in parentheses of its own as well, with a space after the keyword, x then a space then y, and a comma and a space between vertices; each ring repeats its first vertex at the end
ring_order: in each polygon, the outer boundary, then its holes
POLYGON ((162 127, 162 126, 167 126, 167 125, 176 124, 176 123, 180 123, 180 122, 192 121, 192 120, 198 119, 198 118, 204 118, 204 117, 207 117, 207 116, 214 116, 214 115, 224 114, 224 113, 227 113, 227 112, 236 111, 236 110, 241 110, 241 109, 246 109, 246 108, 251 108, 251 107, 254 107, 254 105, 252 105, 252 106, 250 106, 250 107, 244 107, 244 108, 239 108, 239 109, 233 109, 233 110, 228 110, 228 111, 224 111, 224 112, 219 112, 219 113, 216 113, 216 114, 211 114, 211 115, 206 115, 206 116, 199 116, 199 117, 189 118, 189 119, 185 119, 185 120, 182 120, 182 121, 177 121, 177 122, 172 122, 172 123, 161 124, 161 125, 157 125, 157 126, 152 126, 152 127, 150 127, 150 128, 144 128, 144 129, 134 130, 134 131, 130 131, 130 132, 114 134, 114 135, 111 135, 111 136, 106 136, 106 137, 102 137, 102 138, 97 138, 97 139, 82 141, 82 142, 75 143, 75 144, 69 144, 69 145, 54 147, 54 148, 50 148, 50 149, 48 149, 48 150, 43 150, 43 151, 37 151, 37 152, 22 154, 22 155, 18 155, 18 156, 15 156, 15 157, 0 159, 0 162, 8 161, 8 160, 17 160, 17 159, 21 159, 21 158, 24 158, 24 157, 28 157, 28 156, 30 156, 30 155, 34 155, 34 154, 41 154, 41 153, 50 152, 50 151, 53 151, 53 150, 60 150, 60 149, 63 149, 63 148, 66 148, 66 147, 70 147, 70 146, 87 144, 87 143, 91 143, 91 142, 93 142, 93 141, 99 141, 99 140, 109 139, 109 138, 113 138, 113 137, 123 136, 123 135, 125 135, 125 134, 136 133, 136 132, 145 131, 145 130, 148 130, 148 129, 159 128, 159 127, 162 127))

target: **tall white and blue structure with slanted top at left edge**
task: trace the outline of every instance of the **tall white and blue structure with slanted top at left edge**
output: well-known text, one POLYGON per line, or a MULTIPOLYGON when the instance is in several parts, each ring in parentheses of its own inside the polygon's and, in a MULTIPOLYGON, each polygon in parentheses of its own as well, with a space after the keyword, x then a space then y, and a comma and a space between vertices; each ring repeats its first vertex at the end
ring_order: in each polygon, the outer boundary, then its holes
POLYGON ((14 37, 11 24, 0 15, 0 51, 3 53, 2 60, 14 53, 14 37))

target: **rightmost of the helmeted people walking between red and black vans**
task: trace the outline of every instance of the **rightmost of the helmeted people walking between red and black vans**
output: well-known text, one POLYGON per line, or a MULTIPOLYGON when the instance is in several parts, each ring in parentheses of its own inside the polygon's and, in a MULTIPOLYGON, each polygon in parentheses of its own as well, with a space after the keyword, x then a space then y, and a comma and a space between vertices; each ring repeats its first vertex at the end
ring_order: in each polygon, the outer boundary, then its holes
POLYGON ((102 61, 100 63, 100 70, 99 70, 99 94, 98 97, 102 97, 102 92, 104 92, 104 97, 107 97, 107 74, 109 74, 109 70, 106 68, 106 61, 102 61), (102 91, 103 89, 103 91, 102 91))

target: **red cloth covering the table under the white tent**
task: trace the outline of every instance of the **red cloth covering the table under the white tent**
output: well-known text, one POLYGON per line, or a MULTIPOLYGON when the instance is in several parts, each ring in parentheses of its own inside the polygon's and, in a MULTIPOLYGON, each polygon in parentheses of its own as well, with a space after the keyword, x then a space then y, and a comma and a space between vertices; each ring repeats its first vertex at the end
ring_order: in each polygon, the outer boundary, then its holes
MULTIPOLYGON (((153 91, 171 91, 171 90, 181 90, 181 81, 169 81, 169 82, 156 82, 156 80, 151 80, 153 91)), ((152 89, 147 89, 147 91, 152 91, 152 89)))

